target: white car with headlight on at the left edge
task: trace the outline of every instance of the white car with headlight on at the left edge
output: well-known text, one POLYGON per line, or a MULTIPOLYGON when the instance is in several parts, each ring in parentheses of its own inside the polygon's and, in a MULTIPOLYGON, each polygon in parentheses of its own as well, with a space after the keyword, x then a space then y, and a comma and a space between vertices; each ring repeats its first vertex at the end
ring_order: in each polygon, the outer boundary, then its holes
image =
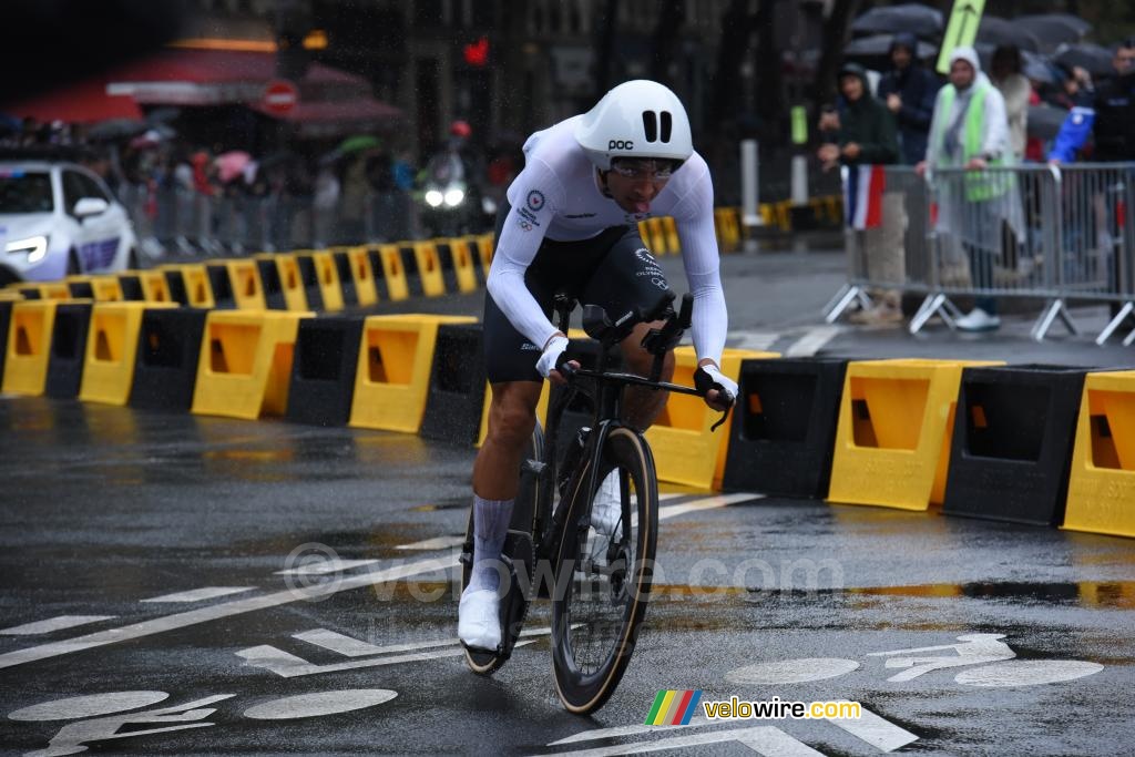
POLYGON ((126 209, 68 162, 0 162, 0 286, 137 267, 126 209))

